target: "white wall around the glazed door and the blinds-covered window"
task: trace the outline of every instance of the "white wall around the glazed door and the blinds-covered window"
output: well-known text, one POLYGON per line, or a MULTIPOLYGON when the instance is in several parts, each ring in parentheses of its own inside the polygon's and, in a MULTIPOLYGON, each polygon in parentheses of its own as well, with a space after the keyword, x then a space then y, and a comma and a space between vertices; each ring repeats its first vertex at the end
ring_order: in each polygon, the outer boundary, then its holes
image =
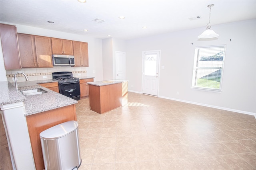
POLYGON ((213 41, 201 41, 197 38, 204 29, 202 27, 127 41, 128 89, 142 92, 142 51, 161 50, 160 97, 254 114, 256 20, 212 25, 212 29, 220 35, 213 41), (190 87, 195 47, 222 44, 226 44, 222 93, 192 90, 190 87))

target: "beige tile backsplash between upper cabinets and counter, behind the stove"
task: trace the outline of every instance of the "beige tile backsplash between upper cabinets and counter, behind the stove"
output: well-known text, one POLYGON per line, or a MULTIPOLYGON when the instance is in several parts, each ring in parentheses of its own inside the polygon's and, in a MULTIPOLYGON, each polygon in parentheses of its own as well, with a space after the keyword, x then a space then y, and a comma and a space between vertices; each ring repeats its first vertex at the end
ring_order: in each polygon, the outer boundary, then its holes
MULTIPOLYGON (((74 77, 87 76, 86 67, 54 66, 48 68, 21 68, 18 70, 6 70, 7 80, 14 82, 16 72, 24 72, 30 81, 52 79, 52 72, 71 71, 74 77)), ((16 76, 17 82, 26 81, 23 74, 16 76)))

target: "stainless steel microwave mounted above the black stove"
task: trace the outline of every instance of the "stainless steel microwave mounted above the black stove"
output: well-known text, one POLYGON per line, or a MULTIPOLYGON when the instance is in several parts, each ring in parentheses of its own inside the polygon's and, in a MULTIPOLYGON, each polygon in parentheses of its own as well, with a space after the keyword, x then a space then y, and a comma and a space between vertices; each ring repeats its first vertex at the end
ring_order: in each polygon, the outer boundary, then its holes
POLYGON ((74 55, 52 55, 53 66, 74 66, 74 55))

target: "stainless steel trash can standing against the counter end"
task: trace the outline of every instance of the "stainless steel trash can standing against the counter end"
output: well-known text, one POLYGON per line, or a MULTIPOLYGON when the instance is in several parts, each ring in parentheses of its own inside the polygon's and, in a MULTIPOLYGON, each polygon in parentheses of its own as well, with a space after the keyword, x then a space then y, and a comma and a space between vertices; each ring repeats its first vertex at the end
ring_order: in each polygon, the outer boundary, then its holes
POLYGON ((73 170, 81 165, 77 121, 42 131, 40 140, 45 170, 73 170))

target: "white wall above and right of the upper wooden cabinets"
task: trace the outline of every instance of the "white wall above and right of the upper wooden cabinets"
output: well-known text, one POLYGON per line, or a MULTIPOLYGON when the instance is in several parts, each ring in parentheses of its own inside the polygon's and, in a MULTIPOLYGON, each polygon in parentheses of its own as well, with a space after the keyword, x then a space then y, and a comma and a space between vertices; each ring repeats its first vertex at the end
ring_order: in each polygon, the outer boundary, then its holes
MULTIPOLYGON (((61 38, 61 39, 70 39, 74 41, 83 41, 88 42, 88 53, 89 53, 89 67, 84 67, 82 69, 86 69, 87 76, 95 77, 94 81, 102 80, 103 70, 102 70, 102 42, 101 39, 96 39, 90 36, 85 35, 76 35, 76 34, 70 34, 70 33, 64 33, 60 31, 52 31, 49 29, 42 29, 37 27, 29 27, 25 25, 19 25, 15 23, 7 23, 10 25, 16 25, 17 32, 18 33, 26 33, 26 34, 32 34, 32 35, 41 35, 46 37, 55 37, 55 38, 61 38), (94 73, 94 72, 95 73, 94 73)), ((1 48, 2 51, 2 48, 1 48)), ((0 53, 0 61, 1 61, 1 81, 6 81, 2 77, 6 77, 6 73, 4 70, 4 67, 2 67, 2 52, 0 53), (5 74, 5 75, 4 75, 5 74)))

